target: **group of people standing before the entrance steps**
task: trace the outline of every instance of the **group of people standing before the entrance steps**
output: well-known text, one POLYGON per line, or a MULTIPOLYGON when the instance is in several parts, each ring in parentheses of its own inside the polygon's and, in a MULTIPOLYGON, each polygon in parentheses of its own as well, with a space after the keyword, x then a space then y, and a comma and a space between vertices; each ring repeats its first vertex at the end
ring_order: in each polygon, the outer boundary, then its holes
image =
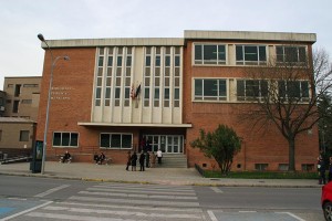
POLYGON ((132 166, 132 171, 136 171, 137 159, 139 162, 139 171, 144 171, 145 167, 155 167, 156 158, 158 159, 158 164, 162 164, 163 151, 160 149, 158 149, 157 155, 155 155, 154 151, 151 152, 142 150, 139 158, 136 151, 134 151, 133 154, 128 151, 126 170, 128 171, 129 167, 132 166))

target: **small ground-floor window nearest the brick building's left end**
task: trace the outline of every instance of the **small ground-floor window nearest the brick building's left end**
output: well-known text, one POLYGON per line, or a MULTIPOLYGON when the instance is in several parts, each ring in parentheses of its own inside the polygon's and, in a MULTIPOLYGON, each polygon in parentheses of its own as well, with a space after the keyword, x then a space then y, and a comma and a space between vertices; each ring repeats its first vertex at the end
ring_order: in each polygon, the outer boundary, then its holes
POLYGON ((53 133, 53 146, 54 147, 77 147, 79 146, 79 133, 71 131, 55 131, 53 133))

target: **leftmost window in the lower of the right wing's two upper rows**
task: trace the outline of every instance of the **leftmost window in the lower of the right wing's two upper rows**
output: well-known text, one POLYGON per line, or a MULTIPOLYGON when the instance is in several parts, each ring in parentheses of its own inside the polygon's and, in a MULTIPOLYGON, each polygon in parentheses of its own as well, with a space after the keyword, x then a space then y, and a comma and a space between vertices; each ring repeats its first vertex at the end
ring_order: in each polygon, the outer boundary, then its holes
POLYGON ((195 101, 226 101, 226 80, 204 78, 195 80, 195 101))

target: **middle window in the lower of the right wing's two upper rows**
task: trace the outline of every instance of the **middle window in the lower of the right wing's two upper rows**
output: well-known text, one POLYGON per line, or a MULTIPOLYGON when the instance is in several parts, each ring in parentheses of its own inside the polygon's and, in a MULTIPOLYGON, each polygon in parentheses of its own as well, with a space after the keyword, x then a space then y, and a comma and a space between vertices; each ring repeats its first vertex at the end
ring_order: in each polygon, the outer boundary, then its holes
POLYGON ((268 82, 264 80, 238 80, 238 101, 256 101, 268 95, 268 82))

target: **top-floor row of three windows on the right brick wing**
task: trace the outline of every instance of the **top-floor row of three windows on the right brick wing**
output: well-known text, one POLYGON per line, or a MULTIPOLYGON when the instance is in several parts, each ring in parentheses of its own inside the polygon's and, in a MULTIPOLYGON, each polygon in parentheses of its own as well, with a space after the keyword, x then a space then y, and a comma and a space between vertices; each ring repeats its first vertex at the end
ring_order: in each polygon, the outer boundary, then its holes
MULTIPOLYGON (((267 65, 268 45, 238 44, 235 52, 228 53, 227 44, 194 44, 194 64, 198 65, 227 65, 228 54, 235 53, 236 65, 267 65)), ((293 45, 277 45, 277 63, 305 64, 307 48, 293 45)))

